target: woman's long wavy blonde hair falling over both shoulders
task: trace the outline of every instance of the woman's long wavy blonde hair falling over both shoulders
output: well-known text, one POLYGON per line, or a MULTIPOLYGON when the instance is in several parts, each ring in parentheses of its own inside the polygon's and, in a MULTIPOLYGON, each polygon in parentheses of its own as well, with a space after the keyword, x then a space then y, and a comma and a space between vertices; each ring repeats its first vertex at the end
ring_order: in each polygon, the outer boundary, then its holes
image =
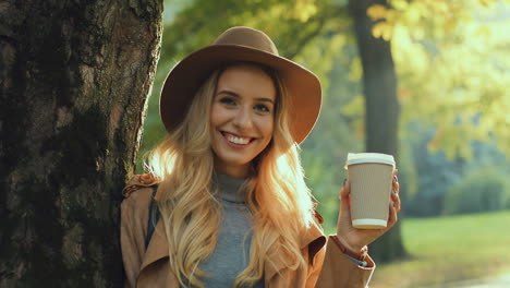
MULTIPOLYGON (((275 128, 269 145, 253 160, 251 178, 244 185, 254 235, 250 264, 233 287, 256 284, 266 264, 283 262, 290 269, 305 267, 300 236, 313 221, 312 195, 304 181, 299 146, 289 130, 290 99, 279 76, 260 68, 271 76, 278 92, 275 128), (271 248, 277 255, 269 255, 271 248)), ((150 169, 162 180, 157 201, 169 243, 170 268, 181 286, 204 287, 199 278, 206 273, 198 265, 214 252, 222 217, 211 185, 209 117, 223 70, 215 71, 202 85, 179 128, 150 153, 150 169)))

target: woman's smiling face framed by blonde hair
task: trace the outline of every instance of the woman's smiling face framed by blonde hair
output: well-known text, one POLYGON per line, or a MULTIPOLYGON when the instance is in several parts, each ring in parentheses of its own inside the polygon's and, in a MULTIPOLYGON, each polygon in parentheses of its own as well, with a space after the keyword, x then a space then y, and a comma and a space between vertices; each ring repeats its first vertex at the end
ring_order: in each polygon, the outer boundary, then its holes
POLYGON ((226 69, 218 80, 210 123, 215 167, 245 177, 272 137, 277 91, 269 75, 248 64, 226 69))

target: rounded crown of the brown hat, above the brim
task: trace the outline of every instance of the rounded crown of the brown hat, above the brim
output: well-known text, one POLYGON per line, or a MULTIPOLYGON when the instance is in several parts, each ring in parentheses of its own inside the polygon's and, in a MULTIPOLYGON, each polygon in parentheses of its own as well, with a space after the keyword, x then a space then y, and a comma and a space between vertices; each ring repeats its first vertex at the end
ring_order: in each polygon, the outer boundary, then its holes
POLYGON ((279 56, 276 45, 264 32, 250 27, 232 27, 223 32, 214 45, 238 45, 279 56))

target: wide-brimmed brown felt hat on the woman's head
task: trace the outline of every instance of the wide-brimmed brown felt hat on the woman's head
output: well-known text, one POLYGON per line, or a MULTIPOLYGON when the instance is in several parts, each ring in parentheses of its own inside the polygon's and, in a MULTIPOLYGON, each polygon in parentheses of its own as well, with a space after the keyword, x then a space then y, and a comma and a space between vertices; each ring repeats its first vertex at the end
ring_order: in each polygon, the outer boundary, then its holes
POLYGON ((159 101, 167 131, 171 133, 182 122, 196 91, 210 73, 229 62, 262 63, 279 73, 291 104, 292 136, 296 143, 303 142, 320 111, 320 82, 304 67, 280 57, 266 34, 248 27, 227 29, 212 45, 191 53, 170 71, 159 101))

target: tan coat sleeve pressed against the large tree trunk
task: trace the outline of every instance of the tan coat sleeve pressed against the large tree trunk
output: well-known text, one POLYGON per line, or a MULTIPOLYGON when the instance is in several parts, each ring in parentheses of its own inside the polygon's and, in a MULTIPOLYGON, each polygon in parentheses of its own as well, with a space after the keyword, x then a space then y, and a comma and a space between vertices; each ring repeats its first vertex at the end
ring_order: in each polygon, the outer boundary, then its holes
POLYGON ((121 251, 124 265, 124 287, 135 287, 145 254, 148 207, 153 189, 129 182, 121 204, 121 251))

